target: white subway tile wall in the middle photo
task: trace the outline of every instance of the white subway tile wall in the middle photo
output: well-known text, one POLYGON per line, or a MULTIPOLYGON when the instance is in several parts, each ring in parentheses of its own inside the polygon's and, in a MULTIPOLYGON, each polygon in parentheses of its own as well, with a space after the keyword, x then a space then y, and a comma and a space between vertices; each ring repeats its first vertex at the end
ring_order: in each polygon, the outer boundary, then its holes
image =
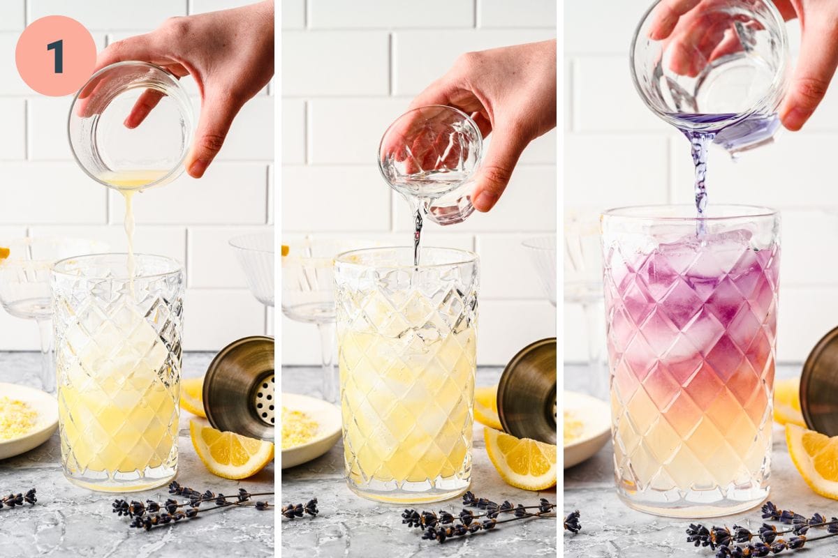
MULTIPOLYGON (((282 0, 282 228, 320 237, 411 242, 411 216, 375 164, 381 134, 458 54, 556 37, 553 0, 282 0)), ((482 258, 478 364, 503 365, 556 335, 528 254, 556 233, 556 132, 533 142, 487 214, 422 242, 482 258)), ((282 361, 318 364, 317 329, 282 317, 282 361)))

